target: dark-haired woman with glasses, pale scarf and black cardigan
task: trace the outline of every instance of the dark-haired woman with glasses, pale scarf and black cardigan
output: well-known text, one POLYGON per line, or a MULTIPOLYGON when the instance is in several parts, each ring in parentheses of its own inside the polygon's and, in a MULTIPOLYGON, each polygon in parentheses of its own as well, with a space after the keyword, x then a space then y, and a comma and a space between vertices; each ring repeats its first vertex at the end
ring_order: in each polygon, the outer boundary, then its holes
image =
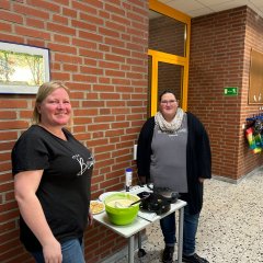
MULTIPOLYGON (((175 94, 164 91, 159 112, 144 124, 137 148, 138 175, 142 183, 169 187, 187 202, 184 208, 183 262, 208 263, 195 253, 195 236, 203 205, 203 183, 211 178, 211 156, 204 125, 178 105, 175 94)), ((160 220, 165 248, 162 262, 173 261, 175 214, 160 220)))

